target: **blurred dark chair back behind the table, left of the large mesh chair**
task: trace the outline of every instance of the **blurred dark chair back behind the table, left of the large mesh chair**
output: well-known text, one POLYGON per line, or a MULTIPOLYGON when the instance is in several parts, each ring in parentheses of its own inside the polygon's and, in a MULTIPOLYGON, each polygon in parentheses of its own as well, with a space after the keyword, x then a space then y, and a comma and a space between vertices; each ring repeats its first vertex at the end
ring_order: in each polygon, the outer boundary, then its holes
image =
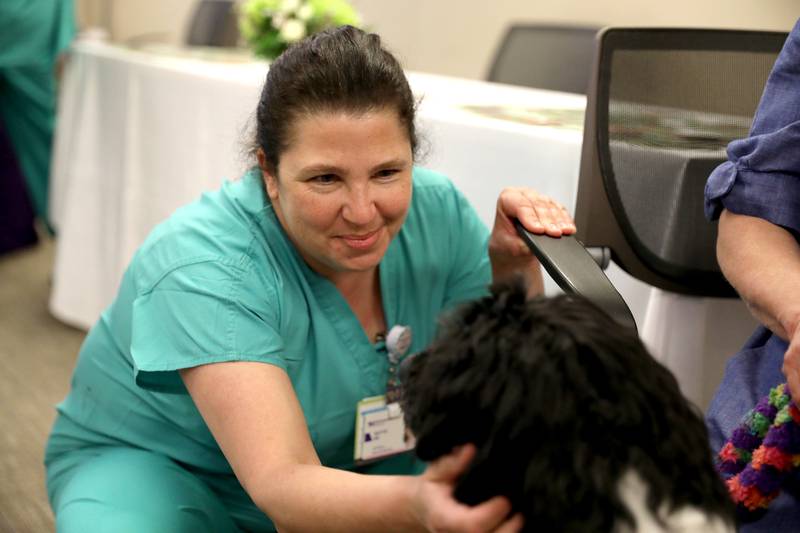
POLYGON ((487 79, 586 94, 600 28, 523 25, 506 32, 487 79))

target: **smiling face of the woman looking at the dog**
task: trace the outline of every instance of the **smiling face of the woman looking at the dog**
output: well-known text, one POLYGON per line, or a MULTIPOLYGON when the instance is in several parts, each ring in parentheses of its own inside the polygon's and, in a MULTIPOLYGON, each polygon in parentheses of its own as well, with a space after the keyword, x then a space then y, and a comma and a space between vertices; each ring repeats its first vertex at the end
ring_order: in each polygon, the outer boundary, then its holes
POLYGON ((374 273, 411 202, 411 143, 394 110, 301 116, 277 175, 259 161, 275 214, 313 270, 334 283, 374 273))

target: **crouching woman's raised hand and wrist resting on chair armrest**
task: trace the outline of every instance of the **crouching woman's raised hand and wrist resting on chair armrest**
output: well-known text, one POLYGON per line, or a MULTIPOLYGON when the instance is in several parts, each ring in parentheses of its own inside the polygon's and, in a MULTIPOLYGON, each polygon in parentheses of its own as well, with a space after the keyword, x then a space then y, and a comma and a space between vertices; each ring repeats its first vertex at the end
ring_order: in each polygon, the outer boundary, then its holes
POLYGON ((515 219, 531 233, 551 237, 572 235, 575 233, 575 221, 563 205, 533 189, 507 188, 497 198, 494 228, 489 239, 493 278, 497 281, 514 273, 522 273, 529 277, 530 292, 539 293, 542 282, 538 261, 517 234, 515 219), (534 270, 536 275, 530 279, 534 270))

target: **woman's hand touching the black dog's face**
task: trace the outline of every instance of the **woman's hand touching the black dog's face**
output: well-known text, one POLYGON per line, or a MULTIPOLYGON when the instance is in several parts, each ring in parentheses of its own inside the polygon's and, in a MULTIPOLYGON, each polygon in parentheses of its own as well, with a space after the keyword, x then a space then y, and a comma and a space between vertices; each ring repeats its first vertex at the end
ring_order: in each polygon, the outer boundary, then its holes
POLYGON ((435 533, 515 533, 522 515, 509 517, 511 503, 495 496, 470 507, 453 498, 453 487, 475 457, 475 446, 465 444, 432 462, 418 478, 415 511, 426 531, 435 533))

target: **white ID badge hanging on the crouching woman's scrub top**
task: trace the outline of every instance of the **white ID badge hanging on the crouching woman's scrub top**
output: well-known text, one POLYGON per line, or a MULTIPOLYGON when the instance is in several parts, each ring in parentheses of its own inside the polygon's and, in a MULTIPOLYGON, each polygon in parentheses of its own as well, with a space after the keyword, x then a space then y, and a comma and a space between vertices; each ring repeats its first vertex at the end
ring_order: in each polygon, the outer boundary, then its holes
POLYGON ((356 464, 385 459, 414 449, 416 440, 406 431, 403 410, 385 396, 364 398, 356 405, 356 464))

